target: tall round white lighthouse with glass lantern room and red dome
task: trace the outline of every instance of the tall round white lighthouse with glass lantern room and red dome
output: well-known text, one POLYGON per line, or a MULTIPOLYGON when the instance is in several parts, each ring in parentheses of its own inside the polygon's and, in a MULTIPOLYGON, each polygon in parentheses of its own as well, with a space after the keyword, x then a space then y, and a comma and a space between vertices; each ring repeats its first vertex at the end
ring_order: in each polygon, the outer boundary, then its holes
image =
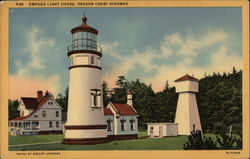
POLYGON ((101 48, 98 31, 87 25, 73 28, 72 45, 68 47, 69 97, 64 144, 97 144, 107 142, 101 86, 101 48))

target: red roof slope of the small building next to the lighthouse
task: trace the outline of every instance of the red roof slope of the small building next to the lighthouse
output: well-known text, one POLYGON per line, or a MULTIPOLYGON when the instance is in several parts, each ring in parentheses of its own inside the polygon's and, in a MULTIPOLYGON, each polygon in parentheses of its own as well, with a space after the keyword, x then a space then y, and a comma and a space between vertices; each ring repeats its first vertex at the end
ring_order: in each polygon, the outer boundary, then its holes
POLYGON ((138 115, 137 112, 128 104, 112 103, 119 115, 138 115))

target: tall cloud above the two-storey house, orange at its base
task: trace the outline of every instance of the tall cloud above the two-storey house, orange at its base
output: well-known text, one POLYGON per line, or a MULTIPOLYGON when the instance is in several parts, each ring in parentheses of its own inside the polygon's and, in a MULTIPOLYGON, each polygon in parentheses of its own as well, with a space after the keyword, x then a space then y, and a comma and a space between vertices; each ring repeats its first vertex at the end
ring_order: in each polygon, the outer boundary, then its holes
POLYGON ((23 59, 27 57, 28 61, 15 60, 16 72, 9 77, 9 98, 35 97, 37 90, 48 90, 57 95, 61 89, 60 77, 58 74, 46 75, 49 68, 43 63, 43 55, 49 53, 44 51, 44 48, 53 49, 54 39, 42 38, 43 31, 38 26, 28 29, 26 35, 23 59))

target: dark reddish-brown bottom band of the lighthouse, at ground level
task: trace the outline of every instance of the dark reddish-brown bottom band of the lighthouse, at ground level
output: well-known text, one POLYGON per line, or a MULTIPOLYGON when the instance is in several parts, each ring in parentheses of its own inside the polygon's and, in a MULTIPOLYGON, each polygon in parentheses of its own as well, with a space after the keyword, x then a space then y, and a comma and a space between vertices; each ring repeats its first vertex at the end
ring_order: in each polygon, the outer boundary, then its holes
POLYGON ((70 145, 95 145, 109 142, 107 137, 103 138, 64 138, 62 144, 70 145))

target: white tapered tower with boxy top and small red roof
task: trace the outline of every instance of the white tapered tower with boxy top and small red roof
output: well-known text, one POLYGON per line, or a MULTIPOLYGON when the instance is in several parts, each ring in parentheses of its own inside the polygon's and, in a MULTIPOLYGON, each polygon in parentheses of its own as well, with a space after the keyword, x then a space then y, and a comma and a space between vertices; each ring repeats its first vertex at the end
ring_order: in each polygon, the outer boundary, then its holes
POLYGON ((199 80, 185 75, 177 80, 176 93, 179 93, 175 123, 179 135, 190 135, 192 130, 201 130, 201 122, 195 93, 199 90, 199 80))

